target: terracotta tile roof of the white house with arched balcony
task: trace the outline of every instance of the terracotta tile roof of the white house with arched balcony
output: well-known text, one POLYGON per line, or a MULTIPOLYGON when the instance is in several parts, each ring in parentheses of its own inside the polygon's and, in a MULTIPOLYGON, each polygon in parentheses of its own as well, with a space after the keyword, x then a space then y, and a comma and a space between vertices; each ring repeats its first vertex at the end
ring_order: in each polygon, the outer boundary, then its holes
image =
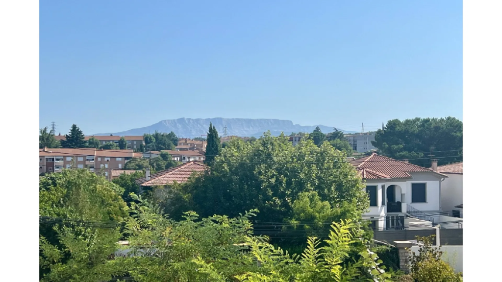
MULTIPOLYGON (((373 153, 372 155, 350 162, 364 179, 412 178, 413 172, 432 172, 431 169, 419 167, 410 163, 394 160, 373 153)), ((445 175, 442 175, 446 177, 445 175)))

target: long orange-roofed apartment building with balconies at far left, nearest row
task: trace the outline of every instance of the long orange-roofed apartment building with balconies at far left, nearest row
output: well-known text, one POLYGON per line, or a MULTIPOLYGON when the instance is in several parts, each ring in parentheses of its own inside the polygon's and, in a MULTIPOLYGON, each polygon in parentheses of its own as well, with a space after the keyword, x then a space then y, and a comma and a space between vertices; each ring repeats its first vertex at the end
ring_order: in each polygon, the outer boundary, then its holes
POLYGON ((142 158, 133 150, 40 149, 39 173, 62 172, 63 169, 89 169, 111 179, 111 170, 121 170, 132 158, 142 158))

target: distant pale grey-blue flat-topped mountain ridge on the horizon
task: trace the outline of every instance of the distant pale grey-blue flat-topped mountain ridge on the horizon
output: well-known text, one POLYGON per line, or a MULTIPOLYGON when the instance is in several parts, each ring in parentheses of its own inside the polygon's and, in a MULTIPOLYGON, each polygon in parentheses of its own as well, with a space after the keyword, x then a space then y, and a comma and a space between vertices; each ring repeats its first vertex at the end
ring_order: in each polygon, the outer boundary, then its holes
MULTIPOLYGON (((209 128, 209 123, 216 127, 218 134, 223 135, 223 128, 226 125, 228 135, 237 136, 254 136, 260 137, 264 132, 270 130, 272 135, 278 136, 281 131, 284 134, 289 135, 291 132, 312 132, 316 126, 321 128, 322 132, 329 133, 333 131, 334 126, 326 125, 312 125, 303 126, 299 124, 293 124, 291 120, 282 119, 267 119, 267 118, 178 118, 178 119, 166 119, 161 120, 150 126, 129 129, 122 132, 110 132, 110 133, 97 133, 94 135, 143 135, 145 133, 153 133, 155 130, 159 132, 171 132, 173 131, 179 137, 197 137, 203 134, 207 134, 209 128)), ((338 130, 342 130, 337 128, 338 130)), ((354 133, 354 131, 345 131, 347 133, 354 133)))

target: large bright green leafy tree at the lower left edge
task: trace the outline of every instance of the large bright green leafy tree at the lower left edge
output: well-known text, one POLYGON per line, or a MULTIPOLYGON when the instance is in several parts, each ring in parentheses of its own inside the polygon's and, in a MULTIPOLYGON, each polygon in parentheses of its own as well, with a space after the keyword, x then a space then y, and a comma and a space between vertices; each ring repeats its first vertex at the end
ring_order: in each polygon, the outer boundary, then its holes
POLYGON ((106 281, 123 274, 123 266, 109 260, 118 247, 118 223, 128 216, 122 193, 87 170, 40 177, 42 281, 106 281))

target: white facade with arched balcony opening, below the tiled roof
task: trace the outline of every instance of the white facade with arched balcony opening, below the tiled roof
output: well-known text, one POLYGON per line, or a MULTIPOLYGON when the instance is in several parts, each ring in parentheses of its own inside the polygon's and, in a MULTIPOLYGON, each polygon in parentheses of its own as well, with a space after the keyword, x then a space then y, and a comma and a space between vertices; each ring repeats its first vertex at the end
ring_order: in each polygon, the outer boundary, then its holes
MULTIPOLYGON (((408 206, 424 214, 434 214, 441 211, 442 178, 434 173, 410 174, 413 177, 412 179, 366 180, 366 187, 377 187, 376 205, 370 206, 369 211, 363 214, 363 218, 378 221, 378 225, 375 226, 378 230, 394 228, 398 227, 398 225, 408 226, 404 222, 404 218, 401 219, 402 221, 397 222, 399 217, 406 217, 408 206), (412 187, 415 183, 425 185, 425 202, 412 201, 412 187), (394 194, 392 194, 393 190, 394 194), (388 219, 391 222, 388 223, 388 219)), ((374 199, 372 204, 375 204, 374 199)))

